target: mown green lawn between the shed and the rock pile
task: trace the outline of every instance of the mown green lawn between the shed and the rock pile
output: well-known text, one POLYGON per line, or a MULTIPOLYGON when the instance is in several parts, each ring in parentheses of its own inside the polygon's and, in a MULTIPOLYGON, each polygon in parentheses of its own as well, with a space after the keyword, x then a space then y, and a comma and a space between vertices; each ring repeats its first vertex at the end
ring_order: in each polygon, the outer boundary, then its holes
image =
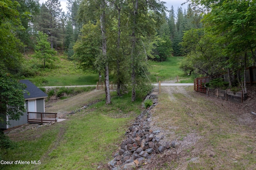
POLYGON ((105 166, 118 150, 130 121, 140 114, 142 102, 138 99, 132 103, 130 94, 122 98, 112 95, 111 105, 105 105, 103 100, 66 121, 10 135, 18 146, 6 150, 2 160, 40 160, 41 164, 0 164, 0 169, 90 170, 105 166))

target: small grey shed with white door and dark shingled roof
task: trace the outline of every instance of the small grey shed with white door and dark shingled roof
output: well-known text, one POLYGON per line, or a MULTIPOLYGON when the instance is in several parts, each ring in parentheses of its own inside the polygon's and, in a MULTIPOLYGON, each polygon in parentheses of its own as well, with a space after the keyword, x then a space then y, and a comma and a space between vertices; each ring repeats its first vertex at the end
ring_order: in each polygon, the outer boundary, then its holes
POLYGON ((20 80, 20 83, 25 84, 26 91, 29 92, 29 95, 27 93, 24 93, 24 98, 26 102, 24 103, 26 107, 26 113, 23 113, 22 116, 20 116, 20 120, 8 120, 8 116, 6 117, 5 123, 0 122, 0 127, 3 129, 8 129, 12 127, 17 127, 20 125, 24 125, 28 123, 28 113, 44 113, 44 100, 48 97, 46 93, 44 93, 41 89, 36 87, 31 81, 29 80, 20 80), (6 121, 10 122, 10 125, 6 124, 6 121))

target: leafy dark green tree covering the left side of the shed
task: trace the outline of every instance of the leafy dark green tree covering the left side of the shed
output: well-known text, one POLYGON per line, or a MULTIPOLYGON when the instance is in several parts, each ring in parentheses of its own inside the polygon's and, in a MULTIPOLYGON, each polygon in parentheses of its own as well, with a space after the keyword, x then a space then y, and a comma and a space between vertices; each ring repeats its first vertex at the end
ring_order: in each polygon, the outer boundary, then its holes
MULTIPOLYGON (((9 120, 18 120, 26 111, 23 96, 26 85, 10 75, 0 72, 0 121, 8 115, 9 120)), ((8 123, 8 122, 7 122, 8 123)))

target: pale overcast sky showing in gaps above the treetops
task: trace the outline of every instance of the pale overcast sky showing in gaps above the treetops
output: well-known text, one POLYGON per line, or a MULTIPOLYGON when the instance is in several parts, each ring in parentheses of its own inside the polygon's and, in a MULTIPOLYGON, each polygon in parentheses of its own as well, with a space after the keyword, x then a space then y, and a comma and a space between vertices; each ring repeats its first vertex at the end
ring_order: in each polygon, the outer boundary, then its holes
MULTIPOLYGON (((40 4, 42 4, 43 2, 45 2, 46 0, 39 0, 40 4)), ((183 2, 186 2, 186 0, 163 0, 164 2, 166 2, 165 6, 167 6, 167 8, 170 10, 171 7, 174 7, 175 10, 175 14, 177 12, 178 7, 182 7, 182 10, 184 11, 184 9, 187 8, 187 4, 185 5, 181 5, 183 2)), ((62 6, 62 10, 66 12, 66 5, 67 5, 67 0, 60 0, 60 4, 62 6)))

